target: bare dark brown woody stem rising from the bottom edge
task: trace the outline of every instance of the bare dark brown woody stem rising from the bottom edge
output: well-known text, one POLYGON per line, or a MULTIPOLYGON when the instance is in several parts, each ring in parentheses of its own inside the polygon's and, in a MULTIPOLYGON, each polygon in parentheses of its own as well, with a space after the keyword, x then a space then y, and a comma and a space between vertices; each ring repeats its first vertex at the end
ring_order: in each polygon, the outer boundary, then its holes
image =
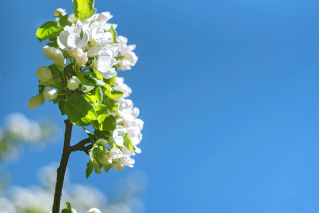
POLYGON ((63 152, 62 152, 60 166, 57 170, 57 183, 56 183, 56 190, 55 190, 54 201, 52 206, 52 213, 60 213, 60 202, 61 202, 61 196, 62 196, 65 170, 68 164, 69 156, 71 154, 70 141, 71 141, 71 134, 72 134, 72 123, 70 122, 69 119, 65 120, 64 123, 65 123, 64 145, 63 145, 63 152))

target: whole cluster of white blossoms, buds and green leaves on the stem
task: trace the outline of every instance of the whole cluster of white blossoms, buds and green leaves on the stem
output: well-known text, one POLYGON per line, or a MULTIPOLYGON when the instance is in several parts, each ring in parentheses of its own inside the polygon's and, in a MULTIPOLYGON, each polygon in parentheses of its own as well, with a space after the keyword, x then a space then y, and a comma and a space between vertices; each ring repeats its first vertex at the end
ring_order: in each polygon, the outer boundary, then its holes
POLYGON ((102 168, 107 172, 133 167, 131 156, 141 152, 137 145, 144 124, 137 118, 139 109, 126 99, 131 89, 117 76, 136 64, 136 46, 117 35, 117 24, 109 23, 110 12, 93 9, 74 8, 70 15, 57 9, 56 21, 37 30, 40 41, 50 41, 42 52, 54 64, 37 69, 39 94, 28 102, 35 109, 44 100, 52 101, 73 124, 93 126, 93 132, 84 128, 92 142, 87 177, 102 168))

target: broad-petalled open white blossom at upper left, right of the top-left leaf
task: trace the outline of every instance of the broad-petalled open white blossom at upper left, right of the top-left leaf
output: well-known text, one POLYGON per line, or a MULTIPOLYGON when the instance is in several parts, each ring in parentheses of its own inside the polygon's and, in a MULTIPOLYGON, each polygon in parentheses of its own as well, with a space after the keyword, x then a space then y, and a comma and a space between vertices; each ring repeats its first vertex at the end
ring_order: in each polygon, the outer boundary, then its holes
POLYGON ((90 32, 86 30, 89 24, 90 22, 88 21, 82 23, 81 20, 77 20, 76 24, 73 23, 72 26, 65 26, 64 31, 57 38, 59 47, 63 50, 85 47, 90 39, 90 32), (81 38, 82 32, 83 36, 81 38))

